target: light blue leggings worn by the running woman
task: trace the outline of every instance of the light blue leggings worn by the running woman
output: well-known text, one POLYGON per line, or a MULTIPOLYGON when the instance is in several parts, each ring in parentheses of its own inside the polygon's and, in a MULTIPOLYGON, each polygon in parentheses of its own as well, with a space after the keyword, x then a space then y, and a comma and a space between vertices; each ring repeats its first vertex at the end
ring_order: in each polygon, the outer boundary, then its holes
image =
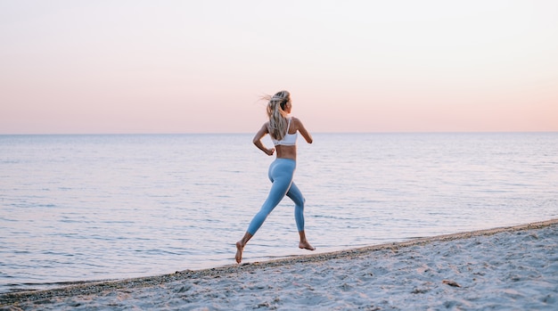
POLYGON ((286 195, 294 202, 294 219, 297 222, 297 229, 304 230, 304 196, 299 187, 292 182, 294 169, 297 162, 291 159, 276 159, 269 165, 267 176, 271 180, 271 190, 267 200, 262 205, 258 214, 252 218, 248 226, 248 233, 254 235, 259 227, 264 223, 267 216, 286 195))

